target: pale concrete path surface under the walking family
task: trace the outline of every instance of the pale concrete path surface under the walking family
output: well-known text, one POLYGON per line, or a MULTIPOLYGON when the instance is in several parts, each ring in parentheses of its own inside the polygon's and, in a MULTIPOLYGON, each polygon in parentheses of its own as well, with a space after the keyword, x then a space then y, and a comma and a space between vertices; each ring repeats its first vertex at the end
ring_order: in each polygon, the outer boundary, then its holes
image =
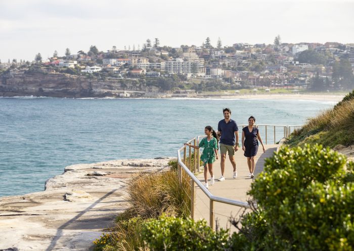
MULTIPOLYGON (((256 156, 256 168, 254 175, 255 177, 263 170, 264 158, 271 157, 274 151, 277 150, 277 144, 266 145, 267 149, 263 153, 261 145, 258 148, 258 154, 256 156)), ((249 175, 249 170, 247 166, 247 159, 243 156, 242 148, 235 153, 236 168, 238 172, 238 177, 234 179, 233 168, 229 157, 226 157, 225 164, 225 181, 217 181, 221 176, 220 170, 220 157, 219 160, 216 160, 213 164, 213 172, 215 177, 215 184, 210 185, 210 174, 208 173, 208 183, 209 191, 216 196, 227 197, 231 199, 241 200, 242 202, 247 202, 249 196, 247 196, 247 191, 251 187, 252 180, 249 175)), ((203 172, 198 176, 199 180, 204 184, 203 172)), ((204 194, 204 192, 196 186, 196 205, 195 205, 195 219, 205 219, 209 223, 209 198, 204 194)), ((235 207, 223 203, 214 202, 214 212, 215 220, 219 227, 230 228, 231 231, 236 231, 234 226, 230 226, 230 217, 238 216, 243 212, 243 209, 240 207, 235 207)), ((216 224, 215 224, 216 225, 216 224)))

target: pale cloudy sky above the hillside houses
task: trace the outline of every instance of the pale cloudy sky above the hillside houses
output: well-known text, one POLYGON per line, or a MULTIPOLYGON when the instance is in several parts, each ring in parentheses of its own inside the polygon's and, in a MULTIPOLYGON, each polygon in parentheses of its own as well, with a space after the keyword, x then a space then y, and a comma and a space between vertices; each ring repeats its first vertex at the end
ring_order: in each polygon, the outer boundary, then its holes
POLYGON ((147 38, 172 47, 237 42, 354 43, 354 0, 0 0, 0 60, 34 60, 138 48, 147 38))

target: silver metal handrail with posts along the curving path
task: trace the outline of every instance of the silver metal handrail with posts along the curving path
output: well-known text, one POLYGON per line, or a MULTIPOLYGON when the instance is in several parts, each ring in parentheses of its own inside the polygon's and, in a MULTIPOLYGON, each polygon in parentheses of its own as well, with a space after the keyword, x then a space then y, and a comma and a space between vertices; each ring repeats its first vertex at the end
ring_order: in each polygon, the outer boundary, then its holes
MULTIPOLYGON (((247 126, 247 125, 239 125, 239 126, 247 126)), ((274 140, 275 140, 275 128, 276 127, 283 127, 284 128, 284 137, 290 135, 290 128, 291 127, 299 127, 302 125, 256 125, 258 126, 265 126, 265 143, 267 144, 267 127, 274 127, 274 140)), ((199 138, 205 137, 205 135, 196 136, 187 141, 187 143, 194 143, 194 145, 199 145, 199 138)), ((190 168, 192 168, 191 162, 191 146, 189 146, 189 162, 190 168)), ((199 179, 194 175, 194 173, 185 165, 186 163, 186 155, 187 155, 187 146, 184 145, 180 149, 177 150, 177 159, 178 159, 178 176, 179 182, 182 183, 183 171, 187 173, 187 175, 191 178, 191 218, 194 219, 194 207, 195 207, 195 184, 204 192, 204 194, 209 198, 210 208, 209 208, 209 224, 211 228, 214 228, 214 202, 224 203, 232 206, 238 206, 242 208, 250 208, 250 205, 247 202, 241 202, 240 200, 225 198, 213 195, 205 186, 199 181, 199 179), (184 152, 183 161, 181 158, 181 151, 184 152)), ((194 149, 194 172, 199 173, 200 168, 200 153, 199 149, 194 149), (196 170, 197 169, 197 170, 196 170)))

